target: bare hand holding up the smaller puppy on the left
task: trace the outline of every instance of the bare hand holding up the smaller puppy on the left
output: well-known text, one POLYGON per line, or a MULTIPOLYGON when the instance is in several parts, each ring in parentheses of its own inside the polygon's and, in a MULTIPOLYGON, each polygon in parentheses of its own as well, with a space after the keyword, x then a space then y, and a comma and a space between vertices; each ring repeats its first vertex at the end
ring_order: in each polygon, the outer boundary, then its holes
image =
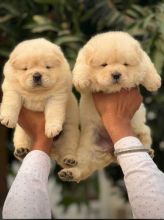
POLYGON ((41 150, 49 155, 53 139, 45 135, 44 113, 30 111, 23 107, 19 114, 18 123, 32 138, 32 150, 41 150))

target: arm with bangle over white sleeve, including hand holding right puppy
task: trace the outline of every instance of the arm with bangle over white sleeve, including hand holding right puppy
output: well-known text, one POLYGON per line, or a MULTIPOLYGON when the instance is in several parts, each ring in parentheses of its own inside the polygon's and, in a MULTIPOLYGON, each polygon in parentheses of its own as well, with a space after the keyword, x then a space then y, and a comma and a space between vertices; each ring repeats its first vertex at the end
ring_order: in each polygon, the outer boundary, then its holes
MULTIPOLYGON (((96 108, 110 134, 115 150, 142 146, 130 120, 141 103, 137 89, 116 94, 94 94, 96 108)), ((164 174, 146 152, 124 153, 117 157, 135 218, 164 218, 164 174)))

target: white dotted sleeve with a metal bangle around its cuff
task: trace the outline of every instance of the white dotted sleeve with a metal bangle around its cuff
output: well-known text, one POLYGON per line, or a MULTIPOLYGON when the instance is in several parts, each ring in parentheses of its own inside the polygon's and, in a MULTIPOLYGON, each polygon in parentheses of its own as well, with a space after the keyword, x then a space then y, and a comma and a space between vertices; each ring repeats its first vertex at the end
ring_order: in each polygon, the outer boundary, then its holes
MULTIPOLYGON (((135 137, 115 143, 115 149, 141 146, 135 137)), ((120 154, 117 157, 134 218, 164 219, 164 174, 146 152, 120 154)))

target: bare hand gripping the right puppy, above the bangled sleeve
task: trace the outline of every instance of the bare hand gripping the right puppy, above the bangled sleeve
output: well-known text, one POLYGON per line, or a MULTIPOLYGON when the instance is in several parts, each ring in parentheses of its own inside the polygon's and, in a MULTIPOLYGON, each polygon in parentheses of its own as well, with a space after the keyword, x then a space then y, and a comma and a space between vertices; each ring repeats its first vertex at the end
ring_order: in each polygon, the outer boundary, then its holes
POLYGON ((114 143, 123 137, 135 136, 130 121, 142 102, 138 88, 111 94, 94 93, 93 99, 114 143))

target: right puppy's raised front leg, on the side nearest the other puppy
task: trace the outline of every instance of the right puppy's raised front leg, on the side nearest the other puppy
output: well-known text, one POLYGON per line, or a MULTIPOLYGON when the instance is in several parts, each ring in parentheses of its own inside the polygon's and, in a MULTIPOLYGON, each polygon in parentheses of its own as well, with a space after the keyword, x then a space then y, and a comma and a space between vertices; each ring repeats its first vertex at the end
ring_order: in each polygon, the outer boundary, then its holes
POLYGON ((73 84, 79 92, 87 92, 91 84, 88 59, 88 50, 86 48, 81 49, 73 69, 73 84))

